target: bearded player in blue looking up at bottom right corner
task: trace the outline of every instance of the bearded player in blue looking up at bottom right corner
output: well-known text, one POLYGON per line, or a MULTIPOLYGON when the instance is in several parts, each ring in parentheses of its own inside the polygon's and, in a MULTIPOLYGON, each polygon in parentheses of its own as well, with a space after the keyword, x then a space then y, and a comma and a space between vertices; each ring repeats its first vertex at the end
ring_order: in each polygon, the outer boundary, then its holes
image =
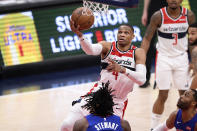
POLYGON ((178 110, 171 113, 165 123, 153 131, 167 131, 175 127, 177 131, 197 131, 197 91, 189 89, 177 102, 178 110))

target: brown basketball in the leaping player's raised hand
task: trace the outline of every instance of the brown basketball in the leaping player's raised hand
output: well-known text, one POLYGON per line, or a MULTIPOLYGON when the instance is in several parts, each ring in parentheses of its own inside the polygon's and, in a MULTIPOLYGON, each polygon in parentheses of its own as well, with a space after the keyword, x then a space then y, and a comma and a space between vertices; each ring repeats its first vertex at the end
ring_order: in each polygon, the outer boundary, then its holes
POLYGON ((75 27, 80 25, 79 30, 87 30, 94 24, 94 15, 90 9, 79 7, 73 11, 71 20, 74 21, 75 27), (87 14, 82 14, 82 11, 87 14))

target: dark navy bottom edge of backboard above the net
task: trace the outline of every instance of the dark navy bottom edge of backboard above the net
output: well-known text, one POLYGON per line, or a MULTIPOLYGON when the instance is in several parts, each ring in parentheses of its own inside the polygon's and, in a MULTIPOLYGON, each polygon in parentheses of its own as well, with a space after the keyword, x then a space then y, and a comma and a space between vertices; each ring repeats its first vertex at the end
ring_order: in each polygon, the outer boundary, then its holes
POLYGON ((138 0, 89 0, 93 2, 98 2, 102 4, 126 7, 126 8, 134 8, 138 5, 138 0))

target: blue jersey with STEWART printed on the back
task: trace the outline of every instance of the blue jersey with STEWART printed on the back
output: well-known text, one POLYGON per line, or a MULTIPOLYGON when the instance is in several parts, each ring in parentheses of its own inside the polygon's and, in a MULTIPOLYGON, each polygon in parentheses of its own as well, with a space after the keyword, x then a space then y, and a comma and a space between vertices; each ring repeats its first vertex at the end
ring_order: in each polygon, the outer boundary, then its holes
POLYGON ((121 119, 116 115, 103 118, 90 114, 86 119, 89 123, 87 131, 123 131, 121 119))

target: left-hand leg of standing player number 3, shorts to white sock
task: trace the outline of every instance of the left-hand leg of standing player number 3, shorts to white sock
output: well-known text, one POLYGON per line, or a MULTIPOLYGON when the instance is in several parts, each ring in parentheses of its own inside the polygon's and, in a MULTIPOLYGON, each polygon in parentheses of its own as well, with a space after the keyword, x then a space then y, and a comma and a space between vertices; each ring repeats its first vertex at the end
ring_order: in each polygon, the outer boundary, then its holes
POLYGON ((158 54, 156 63, 156 82, 159 88, 159 94, 152 109, 151 128, 156 127, 160 123, 164 105, 168 98, 168 91, 172 81, 172 71, 169 62, 167 57, 158 54))

